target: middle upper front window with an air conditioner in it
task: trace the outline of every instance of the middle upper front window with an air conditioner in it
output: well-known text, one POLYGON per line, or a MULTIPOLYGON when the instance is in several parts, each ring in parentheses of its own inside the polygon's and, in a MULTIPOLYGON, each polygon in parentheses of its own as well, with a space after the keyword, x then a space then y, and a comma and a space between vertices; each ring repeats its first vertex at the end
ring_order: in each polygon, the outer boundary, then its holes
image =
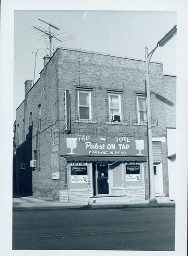
POLYGON ((110 121, 121 120, 121 94, 108 94, 110 121))

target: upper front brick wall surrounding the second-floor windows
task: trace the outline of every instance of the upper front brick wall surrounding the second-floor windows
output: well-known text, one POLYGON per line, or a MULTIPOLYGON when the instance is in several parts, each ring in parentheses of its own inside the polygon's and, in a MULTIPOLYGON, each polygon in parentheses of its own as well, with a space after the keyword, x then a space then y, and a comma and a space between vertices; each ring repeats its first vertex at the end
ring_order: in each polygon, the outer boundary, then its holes
MULTIPOLYGON (((122 120, 137 119, 136 93, 146 93, 145 88, 145 62, 141 60, 126 59, 101 54, 85 53, 58 49, 59 55, 59 115, 63 117, 63 91, 69 89, 71 94, 71 119, 78 119, 77 89, 91 89, 92 94, 92 120, 99 121, 108 118, 108 92, 115 91, 121 94, 122 120)), ((163 136, 165 125, 165 97, 163 65, 150 64, 150 86, 152 101, 152 118, 158 120, 153 127, 153 136, 163 136)), ((173 84, 174 86, 174 84, 173 84)), ((167 89, 166 89, 167 90, 167 89)), ((167 102, 167 100, 166 100, 167 102)), ((170 108, 170 106, 169 106, 170 108)), ((72 133, 78 131, 89 132, 94 128, 98 133, 106 127, 109 131, 132 131, 147 134, 143 126, 120 126, 97 124, 72 124, 72 133), (79 130, 79 129, 80 130, 79 130)))

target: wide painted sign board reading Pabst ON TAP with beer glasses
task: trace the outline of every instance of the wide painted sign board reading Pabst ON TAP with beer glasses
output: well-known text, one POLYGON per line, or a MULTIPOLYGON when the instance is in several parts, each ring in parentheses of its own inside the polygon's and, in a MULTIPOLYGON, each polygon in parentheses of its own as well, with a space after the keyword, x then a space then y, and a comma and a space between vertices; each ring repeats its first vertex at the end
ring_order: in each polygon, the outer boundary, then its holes
POLYGON ((147 137, 64 135, 59 139, 61 156, 148 156, 147 137))

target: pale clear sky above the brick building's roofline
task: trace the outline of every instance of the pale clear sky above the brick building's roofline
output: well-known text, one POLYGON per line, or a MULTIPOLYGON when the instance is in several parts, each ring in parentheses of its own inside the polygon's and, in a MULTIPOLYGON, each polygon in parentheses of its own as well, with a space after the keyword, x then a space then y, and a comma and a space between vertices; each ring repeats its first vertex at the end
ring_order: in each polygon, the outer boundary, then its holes
MULTIPOLYGON (((176 25, 176 12, 166 11, 14 11, 14 116, 24 100, 24 82, 39 78, 43 57, 49 54, 44 33, 47 23, 60 28, 58 36, 72 40, 54 44, 111 55, 144 59, 145 47, 152 51, 156 43, 176 25), (38 50, 35 67, 35 53, 38 50)), ((58 30, 52 28, 52 32, 58 30)), ((48 37, 46 37, 48 40, 48 37)), ((53 41, 52 41, 53 44, 53 41)), ((49 48, 49 44, 48 44, 49 48)), ((158 47, 152 61, 164 63, 164 73, 176 75, 176 36, 158 47)))

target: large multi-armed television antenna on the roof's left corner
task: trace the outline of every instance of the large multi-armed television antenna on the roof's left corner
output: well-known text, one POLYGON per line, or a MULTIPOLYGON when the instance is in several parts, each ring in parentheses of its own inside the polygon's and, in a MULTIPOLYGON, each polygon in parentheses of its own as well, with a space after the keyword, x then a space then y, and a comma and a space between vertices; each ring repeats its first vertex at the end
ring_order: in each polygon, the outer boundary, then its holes
MULTIPOLYGON (((71 36, 66 36, 66 37, 62 37, 62 38, 59 39, 57 36, 59 36, 61 34, 65 34, 66 32, 56 34, 56 33, 52 32, 52 28, 55 28, 56 30, 60 30, 59 27, 57 27, 55 25, 52 25, 50 22, 46 22, 46 21, 44 21, 42 19, 38 19, 38 20, 40 20, 40 21, 42 21, 42 22, 44 22, 44 23, 46 23, 48 25, 48 30, 45 30, 45 29, 43 29, 41 27, 40 28, 39 27, 35 27, 35 26, 33 26, 33 27, 36 30, 38 30, 38 31, 43 33, 43 38, 42 39, 45 39, 45 43, 46 44, 47 44, 46 37, 48 36, 48 39, 49 39, 48 43, 49 43, 50 46, 48 48, 48 45, 47 45, 47 49, 50 51, 50 57, 52 56, 52 39, 55 40, 54 43, 57 43, 57 42, 64 42, 64 41, 71 40, 71 39, 75 38, 74 36, 71 35, 71 36)), ((41 40, 41 39, 39 39, 39 40, 41 40)))

